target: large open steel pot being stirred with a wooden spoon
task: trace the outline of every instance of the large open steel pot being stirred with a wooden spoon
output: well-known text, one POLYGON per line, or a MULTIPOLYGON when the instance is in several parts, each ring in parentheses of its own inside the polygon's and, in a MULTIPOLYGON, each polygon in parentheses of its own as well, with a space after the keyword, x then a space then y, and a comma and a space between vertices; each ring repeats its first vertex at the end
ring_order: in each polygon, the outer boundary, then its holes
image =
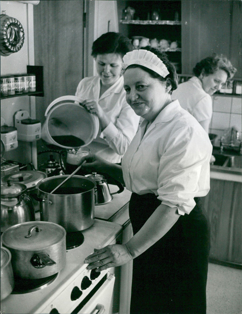
POLYGON ((51 194, 66 178, 54 176, 38 183, 40 220, 61 225, 67 232, 87 229, 94 224, 96 182, 84 176, 73 176, 51 194))

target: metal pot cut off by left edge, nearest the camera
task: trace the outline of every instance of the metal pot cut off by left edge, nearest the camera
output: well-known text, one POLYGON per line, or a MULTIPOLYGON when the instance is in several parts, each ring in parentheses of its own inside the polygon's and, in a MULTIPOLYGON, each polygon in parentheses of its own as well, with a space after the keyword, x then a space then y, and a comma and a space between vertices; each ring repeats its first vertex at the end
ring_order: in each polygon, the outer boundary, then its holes
POLYGON ((1 301, 5 299, 14 288, 11 252, 6 247, 1 247, 1 301))

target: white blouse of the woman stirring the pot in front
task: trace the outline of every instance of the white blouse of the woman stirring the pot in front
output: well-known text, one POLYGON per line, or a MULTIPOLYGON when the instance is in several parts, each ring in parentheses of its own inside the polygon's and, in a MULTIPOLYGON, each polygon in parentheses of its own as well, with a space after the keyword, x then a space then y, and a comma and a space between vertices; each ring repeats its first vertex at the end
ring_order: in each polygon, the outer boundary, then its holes
POLYGON ((154 193, 181 215, 196 205, 194 197, 210 189, 212 144, 196 119, 178 100, 166 106, 145 129, 144 120, 122 159, 126 188, 154 193))

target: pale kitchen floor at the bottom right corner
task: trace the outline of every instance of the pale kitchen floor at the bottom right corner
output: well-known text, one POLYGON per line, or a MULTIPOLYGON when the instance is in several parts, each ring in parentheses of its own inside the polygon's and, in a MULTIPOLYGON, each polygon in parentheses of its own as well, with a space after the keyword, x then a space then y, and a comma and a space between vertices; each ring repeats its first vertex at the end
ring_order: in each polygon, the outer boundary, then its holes
POLYGON ((242 271, 208 264, 207 314, 242 313, 242 271))

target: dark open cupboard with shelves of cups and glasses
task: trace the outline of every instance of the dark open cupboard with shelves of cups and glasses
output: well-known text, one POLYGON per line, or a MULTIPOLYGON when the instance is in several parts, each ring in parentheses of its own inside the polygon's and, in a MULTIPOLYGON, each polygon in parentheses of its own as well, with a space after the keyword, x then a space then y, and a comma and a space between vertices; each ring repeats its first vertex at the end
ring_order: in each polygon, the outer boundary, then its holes
POLYGON ((181 73, 181 1, 117 1, 118 15, 120 20, 120 32, 130 39, 134 37, 146 37, 156 39, 158 43, 164 39, 169 42, 177 42, 177 48, 162 49, 171 62, 174 63, 177 73, 181 73), (135 9, 133 19, 126 19, 124 8, 135 9), (154 19, 153 13, 157 16, 154 19))

